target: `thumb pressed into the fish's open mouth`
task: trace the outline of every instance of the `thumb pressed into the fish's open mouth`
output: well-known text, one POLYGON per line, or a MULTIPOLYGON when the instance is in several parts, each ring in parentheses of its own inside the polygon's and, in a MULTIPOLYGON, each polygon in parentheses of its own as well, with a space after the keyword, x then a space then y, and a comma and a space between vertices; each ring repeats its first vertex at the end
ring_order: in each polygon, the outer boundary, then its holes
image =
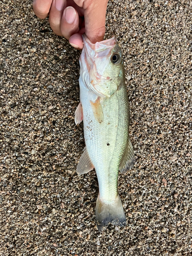
POLYGON ((107 5, 108 0, 97 0, 91 1, 87 7, 83 6, 85 32, 93 44, 103 40, 107 5))

